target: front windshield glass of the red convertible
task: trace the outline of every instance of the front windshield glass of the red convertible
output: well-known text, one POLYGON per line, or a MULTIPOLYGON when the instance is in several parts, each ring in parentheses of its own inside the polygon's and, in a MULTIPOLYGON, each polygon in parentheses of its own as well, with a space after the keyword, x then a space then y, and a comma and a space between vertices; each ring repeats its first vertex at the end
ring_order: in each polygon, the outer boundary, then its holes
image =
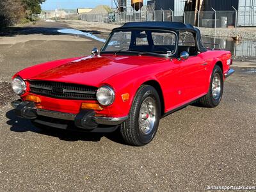
POLYGON ((130 29, 113 31, 101 52, 129 52, 136 54, 168 54, 177 47, 177 35, 172 31, 130 29))

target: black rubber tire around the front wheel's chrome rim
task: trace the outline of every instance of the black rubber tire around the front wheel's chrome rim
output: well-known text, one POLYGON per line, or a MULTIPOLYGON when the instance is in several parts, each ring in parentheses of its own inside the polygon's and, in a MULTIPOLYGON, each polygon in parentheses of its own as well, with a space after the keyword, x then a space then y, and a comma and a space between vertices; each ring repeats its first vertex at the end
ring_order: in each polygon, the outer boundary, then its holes
MULTIPOLYGON (((161 117, 161 103, 156 89, 149 85, 142 85, 136 93, 132 107, 129 113, 129 118, 121 124, 120 131, 124 141, 129 145, 143 146, 153 140, 156 135, 159 120, 161 117), (155 122, 148 134, 141 131, 139 125, 141 105, 146 99, 153 99, 156 106, 155 122)), ((147 115, 148 118, 148 115, 147 115)))

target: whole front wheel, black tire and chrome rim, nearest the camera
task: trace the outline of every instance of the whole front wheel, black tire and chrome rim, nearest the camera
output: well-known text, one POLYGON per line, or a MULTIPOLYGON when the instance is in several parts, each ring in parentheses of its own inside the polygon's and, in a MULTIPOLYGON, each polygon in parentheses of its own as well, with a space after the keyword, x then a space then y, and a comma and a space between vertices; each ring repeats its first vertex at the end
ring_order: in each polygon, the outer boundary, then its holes
POLYGON ((142 146, 156 135, 161 116, 161 104, 155 88, 142 85, 132 103, 129 118, 120 130, 126 143, 142 146))

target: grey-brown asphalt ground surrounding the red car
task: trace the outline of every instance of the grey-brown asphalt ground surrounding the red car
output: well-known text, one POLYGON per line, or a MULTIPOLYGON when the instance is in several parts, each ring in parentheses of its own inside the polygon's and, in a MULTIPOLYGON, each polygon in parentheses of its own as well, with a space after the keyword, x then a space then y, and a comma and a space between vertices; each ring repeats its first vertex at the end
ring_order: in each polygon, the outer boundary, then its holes
MULTIPOLYGON (((28 44, 23 47, 28 51, 9 49, 15 52, 15 61, 8 55, 4 63, 15 64, 1 63, 3 79, 32 61, 83 55, 100 47, 94 41, 50 40, 36 49, 38 42, 28 44)), ((8 47, 0 45, 1 50, 3 46, 8 47)), ((15 117, 7 103, 9 95, 0 111, 0 191, 205 191, 207 186, 255 186, 256 69, 236 70, 225 82, 218 108, 194 105, 166 116, 154 141, 145 147, 124 145, 118 132, 41 131, 15 117)), ((10 84, 4 88, 2 92, 10 84)))

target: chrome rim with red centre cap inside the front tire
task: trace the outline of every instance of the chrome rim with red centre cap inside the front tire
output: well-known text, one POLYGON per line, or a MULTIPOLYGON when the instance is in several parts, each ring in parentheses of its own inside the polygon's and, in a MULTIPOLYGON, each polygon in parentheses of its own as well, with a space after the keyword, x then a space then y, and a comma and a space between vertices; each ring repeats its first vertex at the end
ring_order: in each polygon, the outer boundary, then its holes
POLYGON ((143 134, 149 134, 156 122, 156 102, 147 97, 140 107, 139 127, 143 134))

